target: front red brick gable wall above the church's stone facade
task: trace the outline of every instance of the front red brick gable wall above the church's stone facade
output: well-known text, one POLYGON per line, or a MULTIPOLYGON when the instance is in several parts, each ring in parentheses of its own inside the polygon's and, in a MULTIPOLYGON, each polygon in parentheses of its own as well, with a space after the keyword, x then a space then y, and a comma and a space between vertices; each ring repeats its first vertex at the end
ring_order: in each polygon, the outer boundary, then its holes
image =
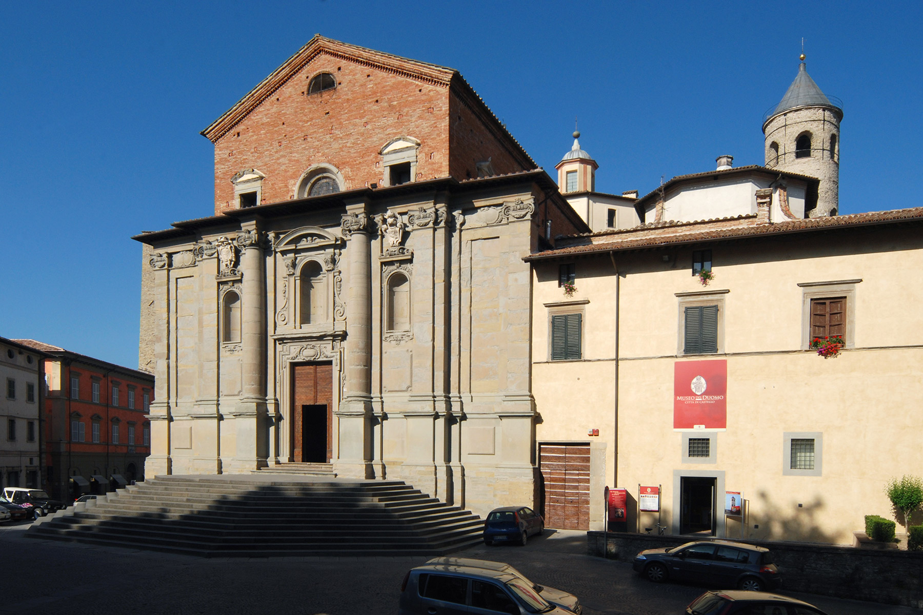
POLYGON ((236 207, 231 178, 246 169, 266 175, 263 204, 293 198, 302 173, 321 162, 339 169, 346 190, 380 184, 378 151, 398 136, 420 141, 417 180, 445 177, 448 118, 446 86, 320 53, 215 143, 215 214, 236 207), (325 71, 337 88, 306 95, 325 71))

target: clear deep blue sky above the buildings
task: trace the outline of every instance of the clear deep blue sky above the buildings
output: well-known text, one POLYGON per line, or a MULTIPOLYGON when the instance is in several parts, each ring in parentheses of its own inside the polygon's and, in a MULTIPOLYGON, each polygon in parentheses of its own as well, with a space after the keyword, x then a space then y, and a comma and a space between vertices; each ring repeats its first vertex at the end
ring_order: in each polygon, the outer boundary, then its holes
POLYGON ((315 33, 458 69, 538 164, 602 192, 720 154, 808 71, 844 101, 844 214, 920 205, 923 3, 20 2, 0 36, 0 336, 138 363, 139 231, 212 213, 198 133, 315 33))

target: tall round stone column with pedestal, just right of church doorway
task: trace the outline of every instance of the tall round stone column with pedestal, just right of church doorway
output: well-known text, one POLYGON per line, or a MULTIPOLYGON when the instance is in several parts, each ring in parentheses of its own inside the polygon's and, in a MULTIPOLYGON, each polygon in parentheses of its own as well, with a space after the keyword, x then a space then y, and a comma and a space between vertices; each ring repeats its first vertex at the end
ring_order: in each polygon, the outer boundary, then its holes
POLYGON ((334 464, 342 476, 375 477, 372 416, 372 220, 366 203, 346 207, 342 233, 348 238, 346 260, 349 290, 346 302, 346 391, 336 415, 339 450, 334 464))

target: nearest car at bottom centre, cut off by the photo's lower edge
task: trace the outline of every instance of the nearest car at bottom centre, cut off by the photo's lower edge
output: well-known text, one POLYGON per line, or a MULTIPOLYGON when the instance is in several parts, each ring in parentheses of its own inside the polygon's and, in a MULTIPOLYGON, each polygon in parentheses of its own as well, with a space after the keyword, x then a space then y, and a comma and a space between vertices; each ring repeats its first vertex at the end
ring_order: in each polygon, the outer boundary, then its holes
POLYGON ((398 615, 569 615, 516 574, 473 566, 426 564, 401 585, 398 615))

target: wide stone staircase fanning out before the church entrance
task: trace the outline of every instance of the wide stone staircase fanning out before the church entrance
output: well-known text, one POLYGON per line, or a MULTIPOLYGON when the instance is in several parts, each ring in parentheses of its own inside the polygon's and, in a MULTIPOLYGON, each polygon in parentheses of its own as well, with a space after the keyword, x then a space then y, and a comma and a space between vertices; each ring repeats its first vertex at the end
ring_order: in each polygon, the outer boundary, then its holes
POLYGON ((160 476, 43 517, 26 536, 201 557, 430 555, 476 544, 483 527, 398 480, 160 476))

